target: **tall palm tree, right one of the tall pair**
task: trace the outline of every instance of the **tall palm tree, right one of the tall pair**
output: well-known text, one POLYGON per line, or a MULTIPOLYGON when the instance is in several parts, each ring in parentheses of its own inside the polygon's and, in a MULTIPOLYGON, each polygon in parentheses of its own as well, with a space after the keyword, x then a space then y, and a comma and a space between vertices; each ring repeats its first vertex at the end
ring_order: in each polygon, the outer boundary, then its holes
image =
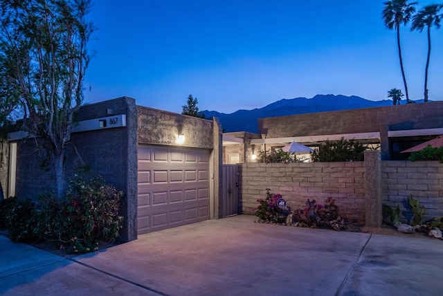
POLYGON ((413 17, 413 25, 410 30, 418 30, 422 32, 424 27, 427 28, 428 33, 428 57, 426 58, 426 70, 424 72, 424 102, 428 102, 428 68, 429 68, 429 58, 431 57, 431 27, 435 26, 440 28, 440 10, 442 9, 441 4, 431 4, 424 6, 422 10, 417 12, 413 17))

